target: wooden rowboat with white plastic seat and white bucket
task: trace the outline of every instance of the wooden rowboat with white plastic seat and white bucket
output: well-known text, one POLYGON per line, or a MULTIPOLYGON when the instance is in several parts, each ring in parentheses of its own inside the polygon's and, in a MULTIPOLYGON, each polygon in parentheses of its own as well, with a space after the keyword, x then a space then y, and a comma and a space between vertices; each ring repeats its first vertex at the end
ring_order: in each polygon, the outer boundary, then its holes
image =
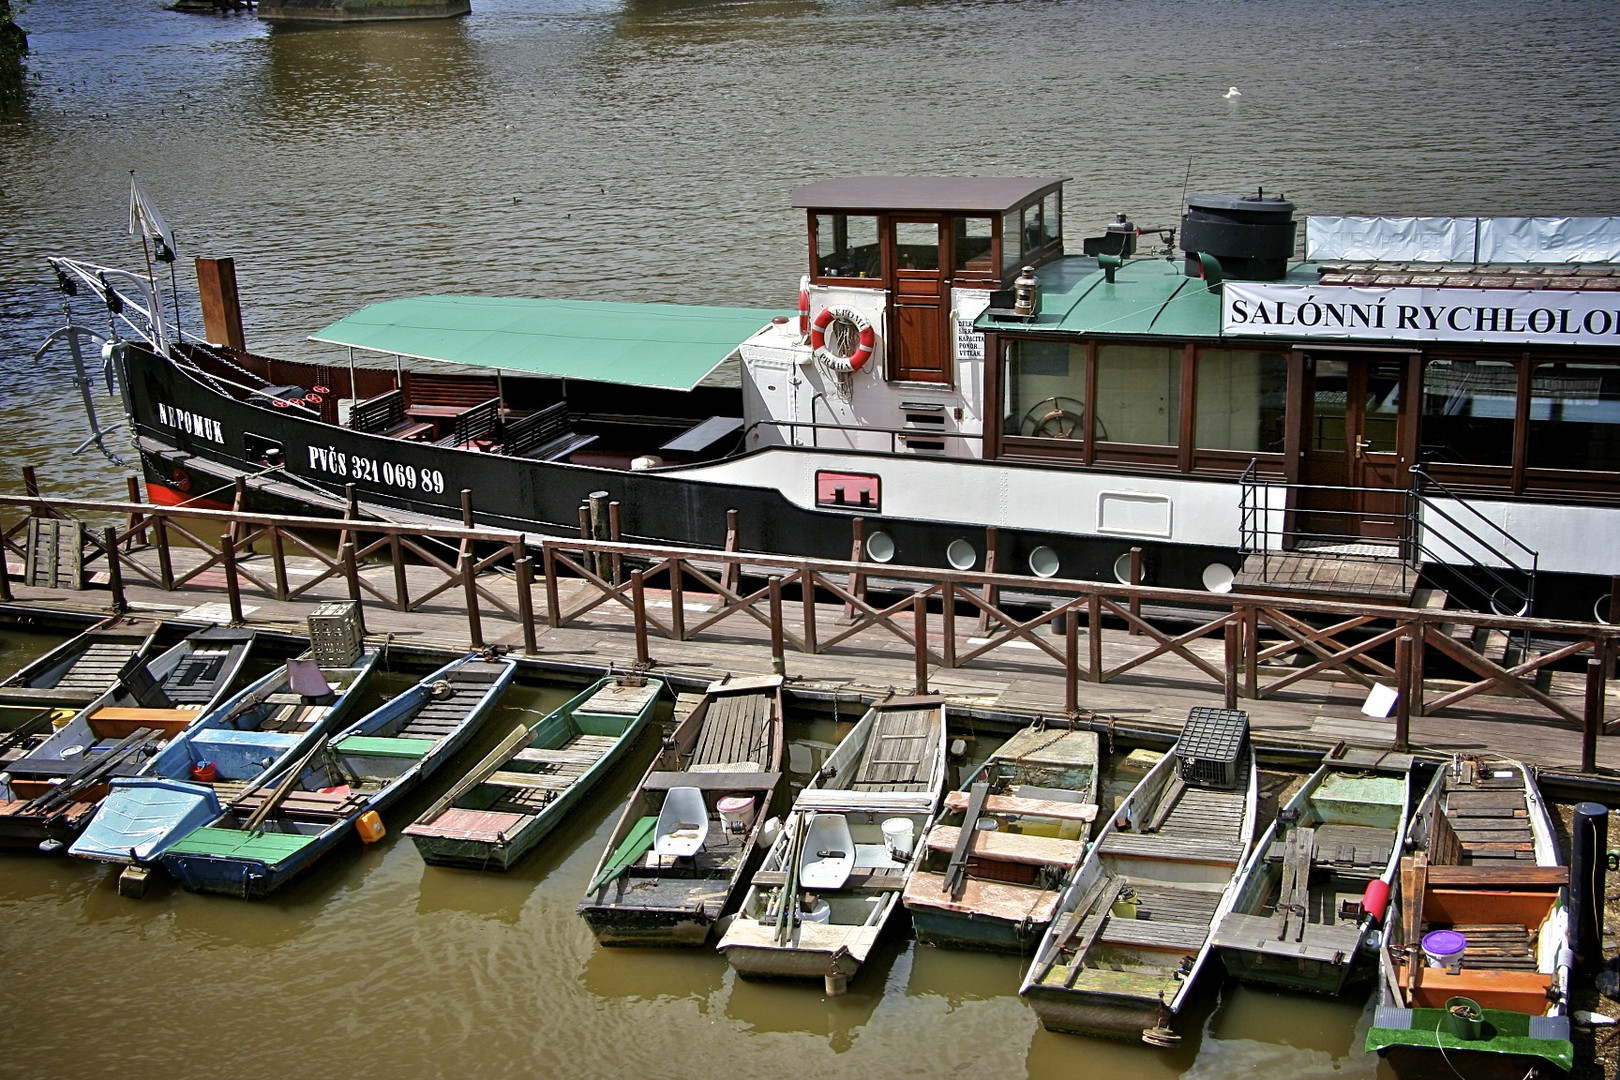
POLYGON ((943 789, 944 701, 872 706, 799 795, 753 874, 719 941, 732 968, 820 978, 841 993, 899 907, 922 852, 915 839, 943 789), (849 839, 812 840, 829 834, 849 839))

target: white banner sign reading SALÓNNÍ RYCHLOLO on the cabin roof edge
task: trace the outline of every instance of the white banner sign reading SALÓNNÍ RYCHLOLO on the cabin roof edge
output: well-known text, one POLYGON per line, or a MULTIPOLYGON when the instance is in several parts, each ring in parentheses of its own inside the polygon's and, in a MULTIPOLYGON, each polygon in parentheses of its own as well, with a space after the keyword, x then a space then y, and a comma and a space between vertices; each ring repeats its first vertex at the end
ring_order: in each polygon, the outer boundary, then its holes
POLYGON ((1220 329, 1243 337, 1620 345, 1620 293, 1226 282, 1220 329))

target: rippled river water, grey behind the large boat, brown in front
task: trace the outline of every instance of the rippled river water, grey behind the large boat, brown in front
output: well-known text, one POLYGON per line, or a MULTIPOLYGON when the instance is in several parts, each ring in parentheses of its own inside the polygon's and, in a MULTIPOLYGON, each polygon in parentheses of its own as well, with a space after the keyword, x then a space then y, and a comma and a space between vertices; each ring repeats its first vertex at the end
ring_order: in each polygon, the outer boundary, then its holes
MULTIPOLYGON (((235 257, 249 348, 303 358, 403 295, 792 308, 791 193, 828 176, 1068 176, 1071 244, 1116 212, 1176 223, 1187 191, 1302 214, 1609 214, 1620 191, 1607 0, 475 0, 316 29, 29 0, 21 21, 0 492, 21 463, 47 491, 123 492, 125 468, 66 453, 86 427, 65 356, 32 355, 62 321, 45 256, 139 262, 130 170, 180 267, 235 257)), ((522 690, 491 738, 548 693, 522 690)), ((802 727, 799 756, 834 735, 802 727)), ((573 904, 629 772, 509 876, 389 837, 267 904, 133 902, 102 870, 3 857, 0 1077, 1375 1072, 1359 1002, 1212 991, 1163 1052, 1047 1035, 1017 960, 904 934, 841 999, 713 954, 596 949, 573 904)))

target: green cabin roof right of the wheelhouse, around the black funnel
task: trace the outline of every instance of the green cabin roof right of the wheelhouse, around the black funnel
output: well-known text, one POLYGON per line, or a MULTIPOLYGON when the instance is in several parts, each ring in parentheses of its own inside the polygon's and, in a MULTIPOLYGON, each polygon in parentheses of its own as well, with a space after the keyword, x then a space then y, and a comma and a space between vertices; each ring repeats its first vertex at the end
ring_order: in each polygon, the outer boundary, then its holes
MULTIPOLYGON (((1187 277, 1181 259, 1129 259, 1115 280, 1097 259, 1066 256, 1037 272, 1040 304, 1034 319, 998 317, 987 311, 978 330, 1016 335, 1119 335, 1220 340, 1220 293, 1187 277)), ((1288 282, 1314 285, 1314 266, 1290 269, 1288 282)))

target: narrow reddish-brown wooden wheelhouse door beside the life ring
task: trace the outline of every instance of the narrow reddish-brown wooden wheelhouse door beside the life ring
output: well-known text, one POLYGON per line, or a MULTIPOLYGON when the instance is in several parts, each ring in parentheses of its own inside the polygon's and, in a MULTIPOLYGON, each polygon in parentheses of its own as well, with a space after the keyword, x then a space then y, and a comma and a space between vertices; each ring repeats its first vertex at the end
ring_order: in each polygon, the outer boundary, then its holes
POLYGON ((949 262, 944 219, 889 220, 889 372, 899 382, 951 382, 949 262))

